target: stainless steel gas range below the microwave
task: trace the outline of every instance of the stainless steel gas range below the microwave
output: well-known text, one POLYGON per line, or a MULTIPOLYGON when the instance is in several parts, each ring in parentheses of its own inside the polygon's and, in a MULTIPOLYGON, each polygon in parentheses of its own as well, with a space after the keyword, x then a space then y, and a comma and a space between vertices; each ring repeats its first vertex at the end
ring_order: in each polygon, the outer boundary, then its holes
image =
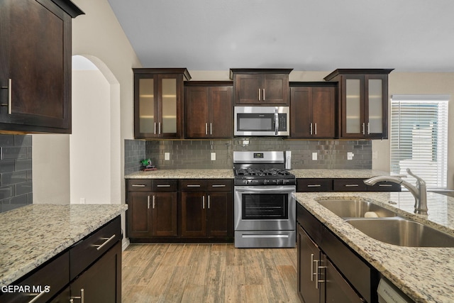
POLYGON ((295 176, 282 151, 234 151, 236 248, 292 248, 296 243, 295 176))

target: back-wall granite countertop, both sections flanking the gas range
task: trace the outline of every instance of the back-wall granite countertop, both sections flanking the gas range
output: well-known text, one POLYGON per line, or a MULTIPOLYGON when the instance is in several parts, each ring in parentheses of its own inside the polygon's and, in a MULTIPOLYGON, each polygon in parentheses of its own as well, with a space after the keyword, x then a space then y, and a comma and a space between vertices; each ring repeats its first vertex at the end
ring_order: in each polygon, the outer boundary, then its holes
MULTIPOLYGON (((297 178, 370 178, 389 175, 381 170, 290 170, 297 178)), ((133 172, 126 179, 233 179, 233 169, 150 170, 133 172)))

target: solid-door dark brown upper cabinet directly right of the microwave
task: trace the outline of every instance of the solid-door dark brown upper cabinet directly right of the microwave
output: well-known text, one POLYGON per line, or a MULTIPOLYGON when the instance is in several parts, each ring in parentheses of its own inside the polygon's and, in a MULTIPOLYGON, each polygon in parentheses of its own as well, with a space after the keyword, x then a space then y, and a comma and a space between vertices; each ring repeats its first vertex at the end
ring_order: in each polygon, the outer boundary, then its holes
POLYGON ((336 138, 336 83, 290 84, 290 138, 336 138))

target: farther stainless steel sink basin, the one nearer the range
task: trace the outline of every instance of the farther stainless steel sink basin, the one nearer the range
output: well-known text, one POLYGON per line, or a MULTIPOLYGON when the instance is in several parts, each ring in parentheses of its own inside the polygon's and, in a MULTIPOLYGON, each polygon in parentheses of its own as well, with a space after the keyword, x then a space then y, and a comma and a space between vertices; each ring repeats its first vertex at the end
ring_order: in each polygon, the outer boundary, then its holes
POLYGON ((394 213, 394 211, 359 199, 333 199, 319 200, 317 202, 319 202, 321 206, 326 207, 341 218, 364 218, 365 214, 370 211, 373 211, 375 214, 377 214, 378 217, 396 216, 396 213, 394 213))

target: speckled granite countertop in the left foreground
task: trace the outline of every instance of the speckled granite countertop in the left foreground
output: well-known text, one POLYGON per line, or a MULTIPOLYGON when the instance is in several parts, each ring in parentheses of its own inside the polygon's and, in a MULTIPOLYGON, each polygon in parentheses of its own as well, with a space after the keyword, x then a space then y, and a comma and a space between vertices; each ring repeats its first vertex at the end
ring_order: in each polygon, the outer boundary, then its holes
POLYGON ((128 209, 32 204, 0 214, 0 287, 10 285, 128 209))

